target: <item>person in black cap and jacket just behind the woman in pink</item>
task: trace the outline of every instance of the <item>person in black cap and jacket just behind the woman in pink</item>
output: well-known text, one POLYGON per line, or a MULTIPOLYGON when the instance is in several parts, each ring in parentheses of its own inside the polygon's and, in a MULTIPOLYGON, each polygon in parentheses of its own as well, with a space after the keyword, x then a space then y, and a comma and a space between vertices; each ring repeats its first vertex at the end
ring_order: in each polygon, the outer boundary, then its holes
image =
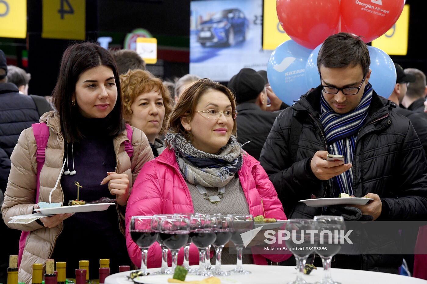
POLYGON ((266 111, 267 94, 264 79, 255 70, 243 68, 228 82, 237 101, 237 140, 245 150, 260 159, 261 150, 278 112, 266 111))

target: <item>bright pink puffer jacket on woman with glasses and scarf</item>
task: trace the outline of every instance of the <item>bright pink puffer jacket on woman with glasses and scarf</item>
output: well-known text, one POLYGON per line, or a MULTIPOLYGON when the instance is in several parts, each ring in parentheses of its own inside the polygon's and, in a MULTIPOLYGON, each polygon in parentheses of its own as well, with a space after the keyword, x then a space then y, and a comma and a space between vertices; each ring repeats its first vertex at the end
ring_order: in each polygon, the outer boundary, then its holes
MULTIPOLYGON (((243 155, 243 165, 238 172, 249 212, 253 216, 263 215, 266 218, 287 220, 282 203, 278 200, 273 184, 260 163, 249 154, 243 155), (263 205, 261 204, 263 200, 263 205)), ((165 149, 156 159, 147 162, 140 171, 126 208, 126 246, 133 263, 140 267, 141 251, 132 241, 129 233, 129 223, 132 216, 153 214, 194 213, 193 202, 187 183, 179 170, 175 152, 165 149)), ((226 212, 224 212, 226 213, 226 212)), ((266 258, 271 261, 284 261, 290 255, 252 255, 254 264, 267 264, 266 258)), ((161 266, 161 248, 154 243, 148 252, 150 267, 161 266)), ((183 261, 183 249, 178 255, 178 264, 183 261)), ((170 262, 170 259, 169 261, 170 262)), ((196 246, 190 246, 190 265, 199 263, 196 246)))

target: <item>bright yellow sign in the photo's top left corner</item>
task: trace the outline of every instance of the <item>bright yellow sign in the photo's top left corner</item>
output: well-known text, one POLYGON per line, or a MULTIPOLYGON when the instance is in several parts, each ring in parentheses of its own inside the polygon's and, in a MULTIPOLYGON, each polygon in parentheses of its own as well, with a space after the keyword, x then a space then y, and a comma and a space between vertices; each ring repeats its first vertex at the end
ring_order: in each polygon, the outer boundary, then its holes
POLYGON ((0 38, 26 38, 26 0, 0 0, 0 38))

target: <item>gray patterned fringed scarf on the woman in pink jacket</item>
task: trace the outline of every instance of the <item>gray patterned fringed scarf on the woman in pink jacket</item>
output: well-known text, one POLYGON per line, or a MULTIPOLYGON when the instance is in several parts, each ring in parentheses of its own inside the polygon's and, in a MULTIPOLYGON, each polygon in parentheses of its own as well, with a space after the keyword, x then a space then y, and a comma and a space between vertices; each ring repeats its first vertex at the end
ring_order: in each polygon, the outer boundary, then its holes
POLYGON ((181 174, 194 185, 222 187, 227 185, 243 165, 242 145, 231 136, 217 154, 200 151, 179 133, 168 132, 165 141, 175 151, 181 174))

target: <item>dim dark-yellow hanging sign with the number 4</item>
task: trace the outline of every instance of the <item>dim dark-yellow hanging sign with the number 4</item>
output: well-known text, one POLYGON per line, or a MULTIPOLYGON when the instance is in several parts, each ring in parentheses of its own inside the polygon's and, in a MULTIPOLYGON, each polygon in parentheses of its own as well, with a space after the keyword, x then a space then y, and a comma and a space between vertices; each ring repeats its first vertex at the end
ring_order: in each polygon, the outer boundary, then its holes
POLYGON ((84 40, 85 0, 43 0, 42 38, 84 40))

